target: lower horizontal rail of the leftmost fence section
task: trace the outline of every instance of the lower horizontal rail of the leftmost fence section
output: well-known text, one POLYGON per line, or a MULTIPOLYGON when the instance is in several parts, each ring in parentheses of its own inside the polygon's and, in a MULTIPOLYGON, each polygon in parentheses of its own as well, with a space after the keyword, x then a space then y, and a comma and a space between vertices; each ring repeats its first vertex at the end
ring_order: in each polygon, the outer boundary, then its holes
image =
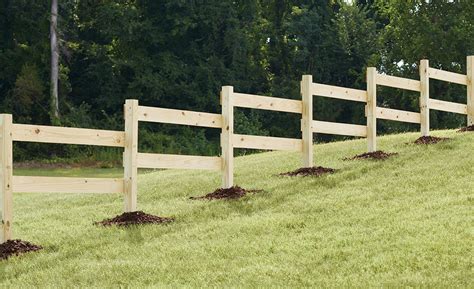
POLYGON ((13 176, 13 192, 122 194, 123 179, 13 176))

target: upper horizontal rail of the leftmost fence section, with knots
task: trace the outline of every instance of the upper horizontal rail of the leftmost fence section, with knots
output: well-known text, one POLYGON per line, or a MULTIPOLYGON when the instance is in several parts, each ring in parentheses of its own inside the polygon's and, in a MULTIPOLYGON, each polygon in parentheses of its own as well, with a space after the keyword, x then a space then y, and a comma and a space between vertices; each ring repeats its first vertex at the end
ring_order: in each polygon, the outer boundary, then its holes
POLYGON ((13 124, 13 141, 124 147, 125 133, 99 129, 13 124))

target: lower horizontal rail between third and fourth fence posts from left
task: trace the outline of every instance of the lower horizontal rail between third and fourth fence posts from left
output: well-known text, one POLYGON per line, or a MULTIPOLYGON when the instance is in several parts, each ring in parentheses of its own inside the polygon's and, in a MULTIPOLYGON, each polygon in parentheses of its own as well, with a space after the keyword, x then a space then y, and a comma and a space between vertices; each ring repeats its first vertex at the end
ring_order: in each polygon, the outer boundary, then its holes
POLYGON ((234 134, 233 142, 235 148, 277 150, 277 151, 302 151, 301 139, 242 135, 234 134))

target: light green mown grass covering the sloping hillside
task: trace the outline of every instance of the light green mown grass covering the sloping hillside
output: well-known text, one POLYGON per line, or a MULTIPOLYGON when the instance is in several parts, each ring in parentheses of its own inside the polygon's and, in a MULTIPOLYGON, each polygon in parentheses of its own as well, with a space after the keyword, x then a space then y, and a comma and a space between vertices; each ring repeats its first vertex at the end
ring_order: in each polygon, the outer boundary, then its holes
POLYGON ((434 134, 452 140, 380 137, 399 153, 386 161, 341 160, 365 140, 316 145, 316 164, 339 169, 320 178, 275 176, 298 153, 237 158, 236 183, 265 192, 235 201, 189 200, 218 173, 141 174, 139 209, 176 218, 164 226, 93 226, 118 195, 16 194, 15 237, 45 249, 0 262, 0 286, 471 287, 474 134, 434 134))

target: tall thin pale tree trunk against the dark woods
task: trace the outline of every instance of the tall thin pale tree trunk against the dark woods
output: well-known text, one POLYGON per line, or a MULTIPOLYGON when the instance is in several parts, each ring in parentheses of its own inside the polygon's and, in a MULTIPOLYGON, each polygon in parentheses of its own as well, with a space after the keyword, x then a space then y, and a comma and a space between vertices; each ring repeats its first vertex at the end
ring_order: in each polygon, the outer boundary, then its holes
POLYGON ((53 123, 59 120, 59 97, 58 97, 58 70, 59 50, 57 38, 58 26, 58 0, 51 0, 51 120, 53 123))

